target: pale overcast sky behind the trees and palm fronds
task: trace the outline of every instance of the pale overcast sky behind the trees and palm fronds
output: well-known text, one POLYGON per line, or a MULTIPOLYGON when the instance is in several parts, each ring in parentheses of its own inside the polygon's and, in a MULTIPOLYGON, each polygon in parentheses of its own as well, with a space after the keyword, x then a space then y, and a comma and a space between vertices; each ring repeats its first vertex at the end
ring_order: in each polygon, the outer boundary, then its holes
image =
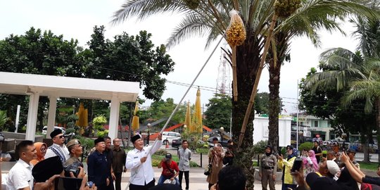
MULTIPOLYGON (((54 34, 63 34, 65 39, 78 39, 80 46, 86 47, 90 39, 94 25, 106 26, 106 37, 113 39, 115 34, 127 32, 128 34, 138 34, 140 30, 147 30, 152 36, 152 41, 156 46, 165 44, 170 37, 172 29, 180 20, 178 15, 155 15, 142 22, 129 20, 118 26, 110 25, 110 20, 115 11, 122 5, 120 0, 66 0, 66 1, 0 1, 0 39, 8 37, 9 34, 24 34, 30 27, 42 30, 51 30, 54 34)), ((310 68, 317 67, 319 54, 330 48, 343 47, 355 50, 357 42, 350 36, 353 27, 346 24, 343 26, 348 37, 334 32, 329 34, 321 31, 322 46, 316 49, 308 39, 296 38, 291 42, 291 62, 285 63, 281 69, 280 96, 283 98, 285 109, 288 112, 296 110, 296 89, 297 80, 305 77, 310 68)), ((216 44, 216 43, 215 43, 216 44)), ((175 71, 166 78, 167 90, 163 94, 163 99, 174 98, 175 103, 184 95, 187 87, 173 84, 172 82, 182 82, 190 84, 203 63, 205 63, 215 44, 205 50, 205 40, 191 38, 182 44, 169 50, 169 54, 175 61, 175 71)), ((217 71, 220 65, 220 49, 213 54, 205 70, 196 80, 195 84, 202 87, 210 87, 208 90, 201 90, 201 101, 208 103, 208 99, 213 97, 217 86, 217 71)), ((232 78, 232 76, 231 76, 232 78)), ((262 72, 259 91, 268 90, 267 69, 262 72)), ((140 96, 142 91, 140 92, 140 96)), ((184 101, 194 103, 196 99, 196 88, 191 89, 184 101)), ((144 106, 150 105, 147 101, 144 106)))

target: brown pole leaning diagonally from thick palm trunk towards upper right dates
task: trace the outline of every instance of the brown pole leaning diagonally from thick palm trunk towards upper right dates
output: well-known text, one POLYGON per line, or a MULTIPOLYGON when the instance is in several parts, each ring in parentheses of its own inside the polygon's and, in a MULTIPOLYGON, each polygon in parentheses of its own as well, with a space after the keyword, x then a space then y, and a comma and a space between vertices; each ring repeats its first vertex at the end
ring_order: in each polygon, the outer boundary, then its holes
POLYGON ((238 148, 241 146, 241 143, 243 142, 243 139, 244 139, 244 134, 246 132, 246 128, 247 128, 247 124, 248 124, 248 118, 249 118, 249 115, 251 115, 251 110, 253 107, 253 103, 255 101, 255 96, 256 96, 257 91, 258 91, 258 83, 260 82, 261 72, 262 72, 262 69, 264 68, 265 58, 267 58, 267 53, 268 53, 268 49, 270 46, 270 41, 272 39, 274 25, 276 25, 276 22, 277 22, 277 15, 274 13, 274 15, 272 17, 272 23, 270 23, 269 34, 268 34, 267 39, 265 40, 264 51, 262 52, 262 57, 260 60, 258 73, 257 73, 256 78, 255 78, 255 84, 253 84, 251 98, 249 99, 248 107, 246 110, 246 115, 244 116, 243 125, 241 125, 238 148))

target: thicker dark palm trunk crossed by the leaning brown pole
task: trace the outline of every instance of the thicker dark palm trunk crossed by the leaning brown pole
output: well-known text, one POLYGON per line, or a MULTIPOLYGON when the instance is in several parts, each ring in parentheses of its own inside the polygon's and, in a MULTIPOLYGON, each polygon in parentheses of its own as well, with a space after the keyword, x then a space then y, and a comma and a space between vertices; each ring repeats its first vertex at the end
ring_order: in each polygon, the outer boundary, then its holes
MULTIPOLYGON (((239 138, 241 123, 244 119, 244 113, 241 110, 245 110, 248 106, 251 89, 253 88, 258 70, 258 63, 260 62, 261 49, 258 43, 253 31, 247 29, 246 42, 236 48, 236 77, 239 81, 237 89, 241 97, 238 101, 232 100, 232 134, 235 144, 239 138)), ((236 165, 241 166, 246 173, 247 189, 253 189, 253 175, 255 172, 252 166, 253 118, 254 114, 250 114, 243 144, 236 150, 234 158, 236 165)))

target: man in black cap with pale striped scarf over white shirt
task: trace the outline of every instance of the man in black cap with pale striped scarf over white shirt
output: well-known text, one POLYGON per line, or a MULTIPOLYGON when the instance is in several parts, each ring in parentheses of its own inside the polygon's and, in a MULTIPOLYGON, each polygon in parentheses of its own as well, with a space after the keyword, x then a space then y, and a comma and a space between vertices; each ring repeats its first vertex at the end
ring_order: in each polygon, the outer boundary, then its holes
POLYGON ((55 129, 50 133, 50 137, 53 140, 53 145, 49 146, 46 151, 45 159, 58 156, 61 159, 62 164, 70 158, 68 148, 65 146, 65 137, 63 136, 61 129, 55 129))

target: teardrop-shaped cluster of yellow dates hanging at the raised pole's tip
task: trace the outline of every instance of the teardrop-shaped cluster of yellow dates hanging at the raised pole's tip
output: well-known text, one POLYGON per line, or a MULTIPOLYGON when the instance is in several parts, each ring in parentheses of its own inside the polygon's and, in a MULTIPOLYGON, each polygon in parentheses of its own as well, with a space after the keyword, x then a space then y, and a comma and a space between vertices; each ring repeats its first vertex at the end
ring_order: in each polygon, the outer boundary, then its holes
POLYGON ((227 43, 230 46, 240 46, 246 40, 246 27, 237 11, 232 11, 231 22, 226 30, 227 43))

